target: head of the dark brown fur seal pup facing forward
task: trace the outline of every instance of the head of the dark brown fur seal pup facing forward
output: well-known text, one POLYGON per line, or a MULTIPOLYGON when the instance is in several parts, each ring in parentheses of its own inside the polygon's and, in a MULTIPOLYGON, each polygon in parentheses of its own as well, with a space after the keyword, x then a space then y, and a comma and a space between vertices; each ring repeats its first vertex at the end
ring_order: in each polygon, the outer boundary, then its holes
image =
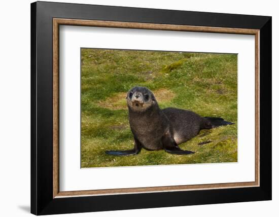
POLYGON ((136 112, 144 112, 157 104, 154 94, 146 87, 133 87, 128 91, 126 100, 128 107, 136 112))

